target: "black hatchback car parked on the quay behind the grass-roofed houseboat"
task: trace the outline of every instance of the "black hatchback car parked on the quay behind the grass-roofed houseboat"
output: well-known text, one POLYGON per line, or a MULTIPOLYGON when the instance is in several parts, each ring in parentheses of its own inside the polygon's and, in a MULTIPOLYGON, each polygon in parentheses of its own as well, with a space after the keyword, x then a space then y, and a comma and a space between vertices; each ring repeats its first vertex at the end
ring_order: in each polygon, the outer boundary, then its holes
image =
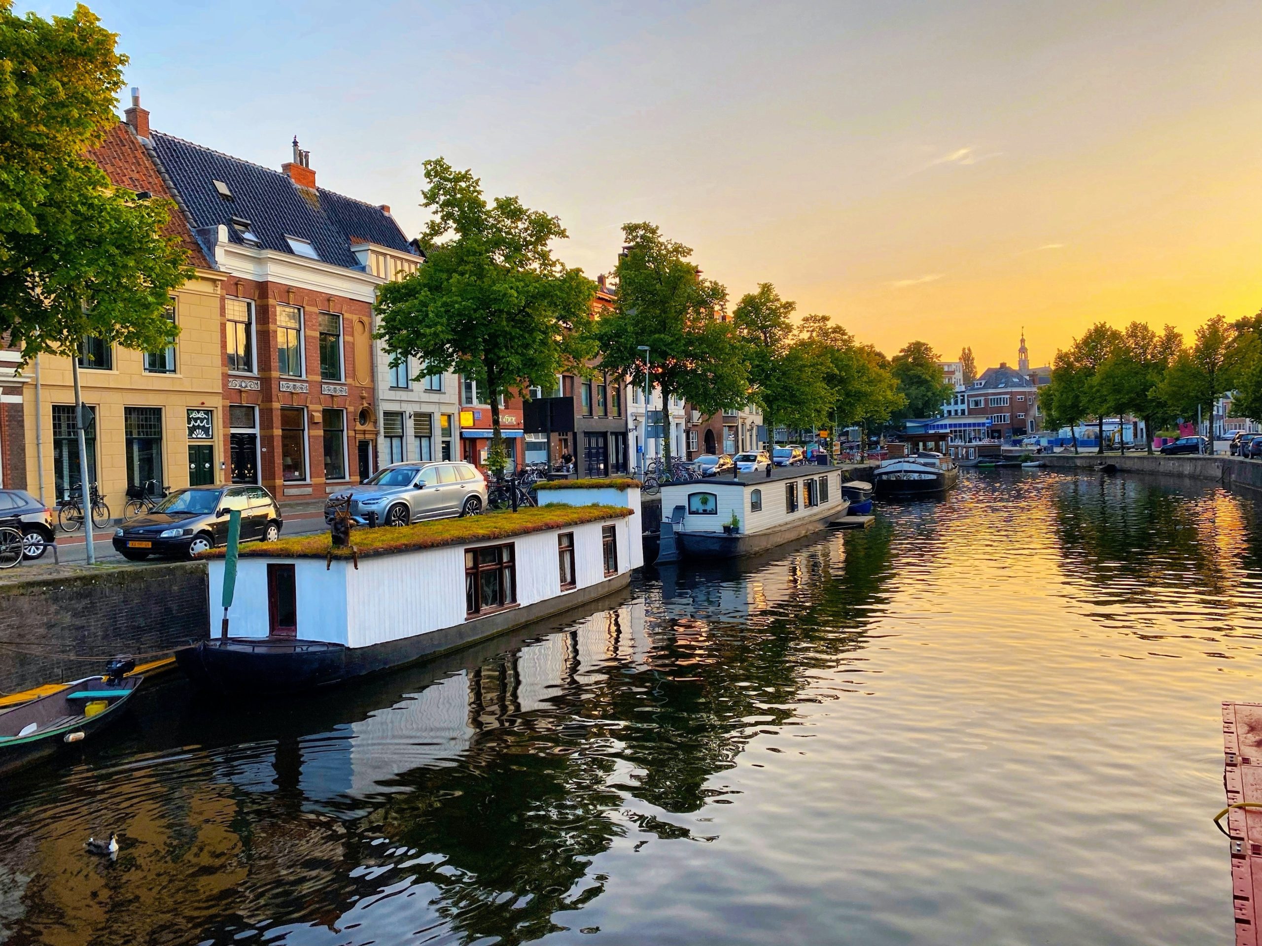
POLYGON ((150 555, 193 558, 227 541, 232 510, 241 511, 242 542, 280 537, 280 507, 261 486, 194 486, 177 489, 153 512, 124 522, 114 531, 114 547, 130 561, 150 555))

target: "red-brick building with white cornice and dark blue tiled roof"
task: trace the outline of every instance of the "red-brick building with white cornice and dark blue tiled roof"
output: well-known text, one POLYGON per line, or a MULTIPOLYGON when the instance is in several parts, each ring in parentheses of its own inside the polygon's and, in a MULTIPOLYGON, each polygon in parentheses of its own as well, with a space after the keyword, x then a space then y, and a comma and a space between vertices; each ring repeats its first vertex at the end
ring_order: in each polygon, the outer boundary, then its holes
POLYGON ((297 139, 279 172, 156 131, 150 143, 223 275, 226 479, 323 498, 369 477, 372 303, 391 265, 420 257, 386 208, 317 187, 297 139))

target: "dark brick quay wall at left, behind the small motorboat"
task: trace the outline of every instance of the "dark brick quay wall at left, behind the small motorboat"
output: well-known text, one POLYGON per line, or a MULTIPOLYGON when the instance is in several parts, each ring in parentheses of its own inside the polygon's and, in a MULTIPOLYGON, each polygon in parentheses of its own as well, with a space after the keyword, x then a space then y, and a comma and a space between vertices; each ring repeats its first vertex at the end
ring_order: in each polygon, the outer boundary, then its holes
POLYGON ((78 680, 102 671, 119 653, 153 653, 206 639, 207 608, 204 563, 5 581, 0 692, 78 680))

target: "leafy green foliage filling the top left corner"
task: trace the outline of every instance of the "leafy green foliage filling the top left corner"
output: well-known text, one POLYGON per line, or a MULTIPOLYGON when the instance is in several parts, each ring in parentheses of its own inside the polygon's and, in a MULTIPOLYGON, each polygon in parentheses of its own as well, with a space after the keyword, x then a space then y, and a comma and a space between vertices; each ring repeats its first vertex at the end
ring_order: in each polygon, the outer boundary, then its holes
POLYGON ((83 6, 19 18, 0 0, 0 338, 24 358, 74 354, 85 334, 159 351, 192 271, 163 235, 170 204, 114 188, 87 158, 126 62, 83 6))

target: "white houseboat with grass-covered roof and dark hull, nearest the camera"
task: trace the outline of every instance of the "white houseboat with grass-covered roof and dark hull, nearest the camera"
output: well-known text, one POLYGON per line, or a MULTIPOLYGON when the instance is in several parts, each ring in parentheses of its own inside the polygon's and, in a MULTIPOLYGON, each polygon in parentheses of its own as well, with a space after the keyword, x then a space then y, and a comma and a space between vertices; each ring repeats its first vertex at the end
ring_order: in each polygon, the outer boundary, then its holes
POLYGON ((515 513, 355 530, 353 550, 331 550, 327 532, 245 546, 228 636, 217 607, 226 563, 212 558, 211 639, 177 661, 217 690, 295 692, 586 605, 642 564, 639 484, 611 482, 543 493, 546 505, 515 513))

